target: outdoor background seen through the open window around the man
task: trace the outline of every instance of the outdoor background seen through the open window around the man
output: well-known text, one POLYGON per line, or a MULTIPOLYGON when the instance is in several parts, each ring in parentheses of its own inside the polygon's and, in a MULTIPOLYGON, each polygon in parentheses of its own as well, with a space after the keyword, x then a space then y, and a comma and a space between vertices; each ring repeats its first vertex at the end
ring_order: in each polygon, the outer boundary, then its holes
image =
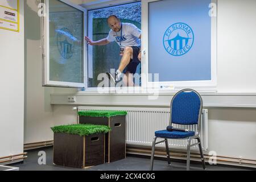
MULTIPOLYGON (((141 29, 141 2, 90 10, 88 12, 88 36, 90 39, 96 41, 108 37, 110 28, 107 19, 110 15, 116 15, 121 22, 132 23, 141 29)), ((97 80, 98 75, 110 72, 110 69, 118 69, 120 60, 119 45, 115 42, 106 46, 89 46, 88 87, 97 87, 101 82, 97 80)), ((137 73, 141 73, 141 64, 137 67, 137 73)))

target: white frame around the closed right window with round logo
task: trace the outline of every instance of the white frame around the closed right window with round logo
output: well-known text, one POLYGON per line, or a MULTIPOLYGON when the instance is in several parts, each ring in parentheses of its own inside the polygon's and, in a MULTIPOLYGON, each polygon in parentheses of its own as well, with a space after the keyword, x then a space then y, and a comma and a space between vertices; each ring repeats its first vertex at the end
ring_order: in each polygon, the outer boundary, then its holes
MULTIPOLYGON (((210 81, 170 81, 170 82, 150 82, 148 77, 148 6, 150 2, 161 0, 143 0, 142 1, 142 73, 146 77, 142 77, 143 88, 169 90, 173 88, 195 88, 208 90, 208 92, 217 91, 217 16, 212 16, 212 37, 211 37, 211 78, 210 81), (156 86, 157 85, 157 86, 156 86)), ((212 0, 217 5, 217 0, 212 0)), ((209 8, 210 10, 210 8, 209 8)), ((217 10, 217 8, 216 8, 217 10)))

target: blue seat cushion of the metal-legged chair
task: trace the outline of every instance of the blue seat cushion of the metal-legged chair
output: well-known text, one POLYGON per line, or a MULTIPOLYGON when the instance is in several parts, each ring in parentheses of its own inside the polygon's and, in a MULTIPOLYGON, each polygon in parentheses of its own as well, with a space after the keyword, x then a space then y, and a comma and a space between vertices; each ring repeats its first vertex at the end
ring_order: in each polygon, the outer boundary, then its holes
POLYGON ((155 131, 155 137, 161 137, 161 138, 187 138, 192 137, 195 135, 195 131, 167 131, 167 130, 160 130, 155 131))

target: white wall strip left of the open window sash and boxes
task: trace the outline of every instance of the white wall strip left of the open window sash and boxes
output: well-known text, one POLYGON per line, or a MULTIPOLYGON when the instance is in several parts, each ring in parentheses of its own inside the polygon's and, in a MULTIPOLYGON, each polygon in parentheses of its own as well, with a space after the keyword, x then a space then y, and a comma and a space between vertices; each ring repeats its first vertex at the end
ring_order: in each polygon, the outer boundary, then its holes
POLYGON ((24 143, 52 140, 51 127, 55 125, 55 121, 60 123, 53 117, 55 110, 54 106, 50 105, 49 95, 53 93, 54 88, 42 86, 41 27, 38 3, 36 0, 27 0, 24 5, 26 64, 24 143))

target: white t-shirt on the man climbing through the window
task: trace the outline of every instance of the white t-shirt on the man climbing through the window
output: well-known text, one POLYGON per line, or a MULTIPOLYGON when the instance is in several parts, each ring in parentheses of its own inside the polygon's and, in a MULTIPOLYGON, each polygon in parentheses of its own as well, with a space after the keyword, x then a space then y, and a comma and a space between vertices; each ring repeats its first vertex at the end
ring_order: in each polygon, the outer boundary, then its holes
POLYGON ((122 40, 121 48, 125 48, 127 46, 141 47, 141 39, 139 39, 139 36, 141 36, 141 30, 139 30, 139 28, 137 28, 134 24, 122 23, 122 36, 121 30, 119 32, 110 30, 107 40, 109 42, 115 41, 119 46, 122 40))

